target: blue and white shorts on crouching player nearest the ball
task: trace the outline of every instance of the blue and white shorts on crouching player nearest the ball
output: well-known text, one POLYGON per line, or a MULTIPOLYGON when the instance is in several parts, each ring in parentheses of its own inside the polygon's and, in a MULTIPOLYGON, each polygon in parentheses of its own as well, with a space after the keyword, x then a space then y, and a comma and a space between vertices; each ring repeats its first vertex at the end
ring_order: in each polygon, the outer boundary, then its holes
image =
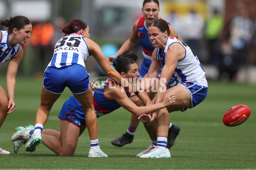
MULTIPOLYGON (((191 107, 189 107, 190 109, 201 103, 207 95, 208 88, 195 84, 194 82, 182 82, 179 85, 183 85, 191 94, 191 107)), ((188 108, 182 108, 180 111, 184 112, 187 109, 188 108)))

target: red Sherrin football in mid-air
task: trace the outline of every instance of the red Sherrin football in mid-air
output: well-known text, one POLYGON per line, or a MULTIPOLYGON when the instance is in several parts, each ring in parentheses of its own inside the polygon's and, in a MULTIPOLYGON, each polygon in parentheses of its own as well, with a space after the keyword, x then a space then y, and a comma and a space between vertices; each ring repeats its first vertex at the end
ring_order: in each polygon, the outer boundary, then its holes
POLYGON ((226 126, 238 126, 244 123, 250 116, 250 108, 247 105, 236 105, 230 108, 223 116, 226 126))

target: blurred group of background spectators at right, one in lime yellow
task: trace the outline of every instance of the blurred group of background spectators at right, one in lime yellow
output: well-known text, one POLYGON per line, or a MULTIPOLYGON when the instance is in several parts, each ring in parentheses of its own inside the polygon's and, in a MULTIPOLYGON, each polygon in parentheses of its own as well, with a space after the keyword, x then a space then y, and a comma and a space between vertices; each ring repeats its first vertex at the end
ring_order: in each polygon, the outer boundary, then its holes
POLYGON ((251 17, 247 8, 239 8, 227 22, 223 11, 217 8, 213 8, 206 18, 195 8, 183 16, 171 10, 166 20, 201 63, 218 69, 218 78, 236 79, 240 69, 256 65, 256 54, 254 59, 249 59, 250 51, 256 48, 256 18, 251 17), (224 26, 227 27, 225 34, 224 26))

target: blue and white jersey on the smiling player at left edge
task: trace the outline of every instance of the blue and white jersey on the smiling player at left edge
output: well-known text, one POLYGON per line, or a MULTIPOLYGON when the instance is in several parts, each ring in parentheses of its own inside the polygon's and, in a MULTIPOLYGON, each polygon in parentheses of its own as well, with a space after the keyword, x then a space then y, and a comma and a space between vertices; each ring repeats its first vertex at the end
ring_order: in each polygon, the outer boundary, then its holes
POLYGON ((16 44, 13 48, 9 47, 9 33, 7 31, 1 31, 2 37, 0 42, 0 64, 5 63, 12 59, 20 49, 20 45, 16 44))

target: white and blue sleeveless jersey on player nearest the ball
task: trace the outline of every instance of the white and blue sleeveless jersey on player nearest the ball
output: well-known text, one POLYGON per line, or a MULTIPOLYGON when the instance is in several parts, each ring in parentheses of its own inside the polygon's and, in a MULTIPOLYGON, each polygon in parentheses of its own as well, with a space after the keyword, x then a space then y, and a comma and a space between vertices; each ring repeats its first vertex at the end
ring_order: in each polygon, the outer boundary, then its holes
POLYGON ((157 60, 161 62, 162 66, 165 65, 166 52, 168 51, 169 46, 173 43, 179 43, 186 50, 184 58, 177 62, 174 74, 172 75, 174 78, 173 85, 177 85, 181 82, 195 82, 198 85, 208 87, 205 71, 200 64, 198 57, 189 46, 180 42, 177 38, 169 36, 164 51, 157 48, 157 60))

